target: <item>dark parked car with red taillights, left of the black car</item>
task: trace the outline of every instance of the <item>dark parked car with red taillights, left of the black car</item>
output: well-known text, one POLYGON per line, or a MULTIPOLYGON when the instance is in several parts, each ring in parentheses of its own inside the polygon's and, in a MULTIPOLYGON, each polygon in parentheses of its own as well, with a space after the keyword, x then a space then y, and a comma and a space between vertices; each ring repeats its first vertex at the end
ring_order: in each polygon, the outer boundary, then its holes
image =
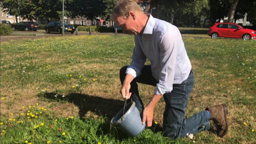
POLYGON ((12 25, 12 30, 33 30, 37 31, 37 29, 40 28, 40 25, 37 24, 36 22, 33 21, 28 21, 28 22, 19 22, 16 25, 12 25))

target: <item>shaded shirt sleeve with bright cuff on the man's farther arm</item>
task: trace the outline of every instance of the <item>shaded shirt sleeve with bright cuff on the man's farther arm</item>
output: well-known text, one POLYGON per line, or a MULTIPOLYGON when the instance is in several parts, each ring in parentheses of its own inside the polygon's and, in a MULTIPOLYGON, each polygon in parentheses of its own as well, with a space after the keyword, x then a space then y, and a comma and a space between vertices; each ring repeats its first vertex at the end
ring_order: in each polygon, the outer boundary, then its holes
POLYGON ((133 49, 132 61, 130 66, 126 70, 126 74, 131 74, 133 77, 139 76, 141 69, 143 68, 147 57, 143 53, 141 46, 138 42, 137 37, 135 36, 135 47, 133 49))

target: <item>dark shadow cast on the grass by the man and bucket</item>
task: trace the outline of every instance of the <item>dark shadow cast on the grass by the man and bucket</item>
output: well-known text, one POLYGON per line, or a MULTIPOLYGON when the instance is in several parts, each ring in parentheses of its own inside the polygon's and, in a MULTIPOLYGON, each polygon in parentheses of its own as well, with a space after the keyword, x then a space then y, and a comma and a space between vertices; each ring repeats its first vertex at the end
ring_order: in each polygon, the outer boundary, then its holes
MULTIPOLYGON (((65 97, 58 93, 41 93, 39 97, 46 99, 47 101, 58 101, 58 102, 70 102, 74 103, 79 108, 79 117, 85 120, 86 113, 91 111, 97 115, 105 116, 107 120, 100 124, 98 127, 97 134, 111 134, 115 138, 122 140, 127 139, 129 136, 122 132, 120 129, 115 127, 110 127, 111 119, 123 108, 124 101, 113 100, 102 98, 99 96, 91 96, 79 93, 69 93, 65 97)), ((162 127, 159 124, 155 124, 154 120, 151 129, 152 132, 157 133, 162 131, 162 127)))

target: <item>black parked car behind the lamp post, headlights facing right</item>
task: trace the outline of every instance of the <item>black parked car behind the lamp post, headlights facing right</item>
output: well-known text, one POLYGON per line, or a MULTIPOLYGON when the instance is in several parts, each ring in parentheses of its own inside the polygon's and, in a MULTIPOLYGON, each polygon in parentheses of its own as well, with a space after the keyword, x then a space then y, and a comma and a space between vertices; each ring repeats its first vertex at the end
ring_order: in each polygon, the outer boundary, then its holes
MULTIPOLYGON (((75 28, 72 26, 69 26, 67 23, 64 23, 65 32, 70 32, 71 34, 74 33, 75 28)), ((49 22, 45 27, 46 33, 50 32, 58 32, 62 33, 62 22, 61 21, 51 21, 49 22)))

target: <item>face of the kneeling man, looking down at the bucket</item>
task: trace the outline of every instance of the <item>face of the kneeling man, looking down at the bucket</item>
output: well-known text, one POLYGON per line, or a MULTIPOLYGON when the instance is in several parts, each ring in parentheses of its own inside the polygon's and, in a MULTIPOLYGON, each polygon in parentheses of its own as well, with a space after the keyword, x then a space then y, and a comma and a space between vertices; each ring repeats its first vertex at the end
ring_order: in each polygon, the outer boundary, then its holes
POLYGON ((135 21, 131 15, 128 17, 113 15, 113 20, 117 26, 119 26, 124 33, 137 35, 139 32, 135 29, 135 21))

